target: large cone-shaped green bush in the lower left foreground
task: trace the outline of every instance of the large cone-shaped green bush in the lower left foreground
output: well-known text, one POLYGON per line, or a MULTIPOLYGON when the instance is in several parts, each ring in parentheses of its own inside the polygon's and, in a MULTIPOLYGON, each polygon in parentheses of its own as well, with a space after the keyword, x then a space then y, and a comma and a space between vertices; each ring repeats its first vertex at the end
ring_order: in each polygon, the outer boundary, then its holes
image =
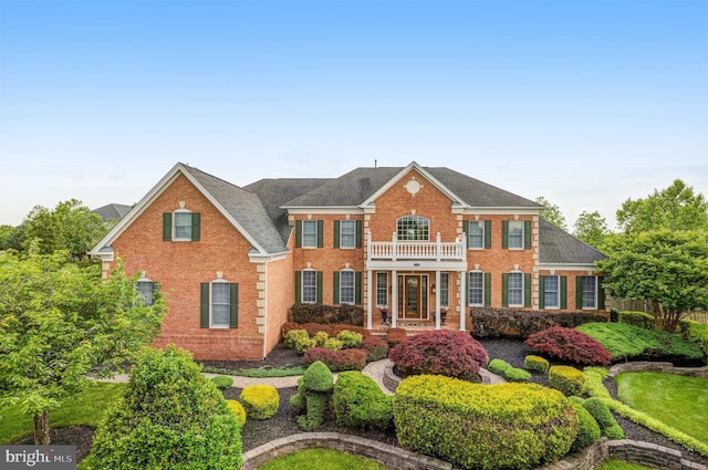
POLYGON ((86 469, 240 469, 241 430, 191 355, 146 348, 125 395, 108 408, 86 469))

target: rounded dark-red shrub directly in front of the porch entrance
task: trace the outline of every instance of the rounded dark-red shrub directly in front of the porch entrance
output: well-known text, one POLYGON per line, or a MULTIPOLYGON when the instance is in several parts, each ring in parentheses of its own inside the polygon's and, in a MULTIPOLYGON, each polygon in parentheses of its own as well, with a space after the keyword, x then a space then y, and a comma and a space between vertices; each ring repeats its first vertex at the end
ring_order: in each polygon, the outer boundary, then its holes
POLYGON ((407 338, 391 349, 388 358, 404 376, 436 374, 479 380, 479 367, 489 356, 469 334, 437 330, 407 338))

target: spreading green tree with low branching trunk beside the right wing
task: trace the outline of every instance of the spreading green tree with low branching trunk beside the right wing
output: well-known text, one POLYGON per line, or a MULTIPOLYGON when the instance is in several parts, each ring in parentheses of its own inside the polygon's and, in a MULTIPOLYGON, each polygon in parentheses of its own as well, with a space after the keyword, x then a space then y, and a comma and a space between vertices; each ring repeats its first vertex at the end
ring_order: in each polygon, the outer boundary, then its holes
POLYGON ((708 307, 708 231, 669 229, 613 237, 597 268, 616 296, 645 300, 656 326, 674 332, 697 307, 708 307))

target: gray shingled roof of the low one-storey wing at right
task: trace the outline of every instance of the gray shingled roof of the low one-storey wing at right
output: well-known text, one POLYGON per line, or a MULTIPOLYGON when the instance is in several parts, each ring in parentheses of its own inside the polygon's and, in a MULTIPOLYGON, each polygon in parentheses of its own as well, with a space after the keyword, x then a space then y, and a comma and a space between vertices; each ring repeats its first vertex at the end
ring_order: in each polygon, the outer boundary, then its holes
POLYGON ((539 262, 548 264, 593 264, 606 257, 587 243, 559 229, 548 220, 539 220, 539 262))

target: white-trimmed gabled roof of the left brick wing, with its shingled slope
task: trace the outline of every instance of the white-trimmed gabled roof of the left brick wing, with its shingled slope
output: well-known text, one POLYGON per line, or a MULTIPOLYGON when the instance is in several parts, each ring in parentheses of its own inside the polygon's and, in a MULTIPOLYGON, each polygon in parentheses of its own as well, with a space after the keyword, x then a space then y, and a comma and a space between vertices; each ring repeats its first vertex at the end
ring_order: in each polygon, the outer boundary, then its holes
POLYGON ((179 176, 189 179, 201 194, 246 237, 259 254, 288 251, 283 239, 268 217, 257 195, 184 164, 175 165, 155 187, 94 247, 98 254, 110 247, 129 224, 179 176))

